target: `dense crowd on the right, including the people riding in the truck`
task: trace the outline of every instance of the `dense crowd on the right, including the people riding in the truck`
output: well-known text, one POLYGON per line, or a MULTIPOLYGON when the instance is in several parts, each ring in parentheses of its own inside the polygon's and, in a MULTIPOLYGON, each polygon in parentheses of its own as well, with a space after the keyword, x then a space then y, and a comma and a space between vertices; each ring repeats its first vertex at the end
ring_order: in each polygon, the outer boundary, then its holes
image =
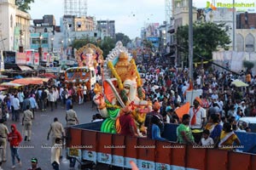
POLYGON ((148 138, 166 140, 160 137, 159 130, 165 123, 177 123, 180 144, 210 144, 229 150, 237 148, 233 144, 241 144, 234 132, 251 132, 246 122, 239 126, 237 122, 243 116, 256 116, 256 77, 250 70, 234 75, 230 71, 215 70, 214 66, 207 68, 195 68, 194 81, 191 81, 187 68, 178 69, 161 59, 151 59, 138 66, 146 98, 156 104, 146 117, 148 138), (236 79, 248 86, 237 88, 232 84, 236 79), (199 96, 190 104, 189 113, 180 118, 176 110, 189 101, 186 93, 192 89, 199 96), (153 124, 158 124, 159 130, 153 131, 153 124))

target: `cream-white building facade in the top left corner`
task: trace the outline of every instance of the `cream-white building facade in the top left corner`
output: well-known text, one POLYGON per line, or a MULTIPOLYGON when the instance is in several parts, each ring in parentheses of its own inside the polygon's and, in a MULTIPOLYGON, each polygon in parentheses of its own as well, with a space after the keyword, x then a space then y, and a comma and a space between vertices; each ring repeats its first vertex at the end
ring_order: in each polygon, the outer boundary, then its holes
POLYGON ((30 14, 20 11, 15 0, 0 0, 0 49, 29 48, 30 14))

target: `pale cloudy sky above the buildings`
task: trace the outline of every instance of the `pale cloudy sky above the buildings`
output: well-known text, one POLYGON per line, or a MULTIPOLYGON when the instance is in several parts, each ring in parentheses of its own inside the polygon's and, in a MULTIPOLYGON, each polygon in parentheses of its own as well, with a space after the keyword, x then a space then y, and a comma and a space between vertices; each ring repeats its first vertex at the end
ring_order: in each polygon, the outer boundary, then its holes
MULTIPOLYGON (((206 7, 207 1, 194 0, 197 8, 206 7)), ((215 0, 217 2, 218 0, 215 0)), ((232 0, 222 0, 222 2, 232 0)), ((236 2, 242 0, 236 0, 236 2)), ((253 0, 247 0, 253 1, 253 0)), ((125 33, 130 38, 140 37, 140 30, 145 23, 163 23, 165 0, 87 0, 87 15, 96 20, 115 20, 116 32, 125 33)), ((31 5, 32 20, 42 19, 44 14, 54 14, 57 25, 64 14, 64 0, 35 0, 31 5)))

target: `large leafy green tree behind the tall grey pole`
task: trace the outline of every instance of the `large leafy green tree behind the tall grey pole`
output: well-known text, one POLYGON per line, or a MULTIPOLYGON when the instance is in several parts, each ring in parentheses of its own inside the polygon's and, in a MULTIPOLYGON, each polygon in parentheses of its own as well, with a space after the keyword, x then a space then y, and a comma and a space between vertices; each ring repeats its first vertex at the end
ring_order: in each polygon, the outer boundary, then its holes
MULTIPOLYGON (((226 31, 222 29, 224 24, 214 24, 212 22, 195 23, 193 25, 193 45, 194 53, 199 54, 204 58, 212 59, 212 52, 217 51, 218 48, 228 49, 230 44, 230 37, 226 31)), ((177 45, 183 49, 189 49, 189 26, 180 26, 177 28, 177 45)), ((185 56, 189 55, 189 50, 183 50, 185 56)), ((194 62, 201 59, 193 56, 194 62)))

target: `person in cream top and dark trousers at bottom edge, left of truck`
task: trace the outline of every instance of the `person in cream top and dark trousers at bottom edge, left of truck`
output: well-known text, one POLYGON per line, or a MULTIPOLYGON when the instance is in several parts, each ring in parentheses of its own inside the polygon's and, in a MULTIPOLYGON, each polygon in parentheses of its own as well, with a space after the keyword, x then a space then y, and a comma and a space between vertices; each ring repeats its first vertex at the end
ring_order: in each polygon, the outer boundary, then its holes
POLYGON ((51 147, 51 165, 54 170, 60 169, 60 157, 61 157, 62 140, 61 138, 55 139, 55 144, 51 147))

